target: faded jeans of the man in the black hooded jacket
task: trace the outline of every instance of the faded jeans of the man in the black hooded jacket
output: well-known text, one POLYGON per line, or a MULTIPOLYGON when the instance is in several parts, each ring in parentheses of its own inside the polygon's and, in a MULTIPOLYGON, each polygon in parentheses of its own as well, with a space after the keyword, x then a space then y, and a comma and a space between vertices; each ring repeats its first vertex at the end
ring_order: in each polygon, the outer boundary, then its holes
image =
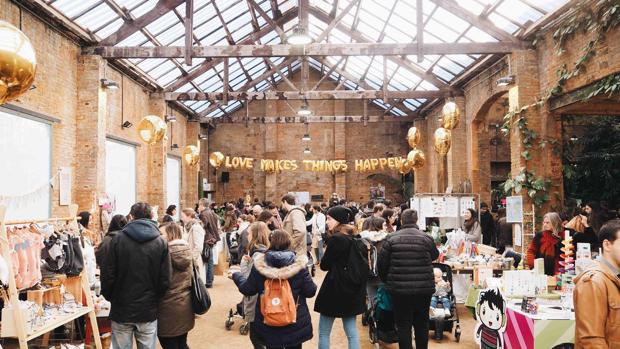
POLYGON ((157 347, 157 320, 141 323, 112 321, 112 346, 114 349, 132 349, 134 336, 138 349, 155 349, 157 347))

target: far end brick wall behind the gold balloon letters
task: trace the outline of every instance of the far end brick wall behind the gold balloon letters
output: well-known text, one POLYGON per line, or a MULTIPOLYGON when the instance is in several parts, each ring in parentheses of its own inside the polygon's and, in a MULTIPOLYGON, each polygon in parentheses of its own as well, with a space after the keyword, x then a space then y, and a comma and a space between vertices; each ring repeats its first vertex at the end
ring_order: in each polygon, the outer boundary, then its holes
MULTIPOLYGON (((310 85, 320 78, 311 72, 310 85)), ((297 72, 292 81, 301 86, 300 73, 297 72)), ((281 84, 284 89, 289 86, 281 84)), ((323 83, 321 89, 335 89, 331 83, 323 83), (328 86, 329 85, 329 86, 328 86)), ((309 101, 310 109, 315 115, 361 115, 362 101, 309 101)), ((293 116, 299 108, 299 101, 254 101, 250 103, 250 116, 293 116)), ((368 107, 369 114, 377 115, 381 110, 368 107)), ((245 115, 245 109, 238 111, 245 115)), ((308 132, 312 140, 301 140, 306 132, 303 124, 218 124, 209 135, 208 146, 203 147, 203 174, 207 174, 210 183, 215 184, 213 169, 207 166, 206 158, 213 151, 221 151, 225 155, 248 156, 255 159, 295 159, 332 160, 347 159, 354 166, 355 159, 379 158, 386 154, 406 156, 409 146, 406 142, 410 123, 385 122, 368 123, 310 123, 308 132), (305 155, 308 146, 311 154, 305 155)), ((311 195, 322 194, 325 201, 331 193, 337 192, 349 200, 367 201, 370 197, 370 186, 382 184, 386 186, 386 196, 394 201, 402 201, 401 176, 392 170, 368 173, 355 172, 352 169, 345 174, 325 172, 283 172, 266 174, 255 167, 254 170, 217 171, 218 186, 216 201, 236 200, 245 195, 260 199, 279 200, 289 191, 308 191, 311 195), (221 172, 230 174, 230 182, 221 183, 221 172)))

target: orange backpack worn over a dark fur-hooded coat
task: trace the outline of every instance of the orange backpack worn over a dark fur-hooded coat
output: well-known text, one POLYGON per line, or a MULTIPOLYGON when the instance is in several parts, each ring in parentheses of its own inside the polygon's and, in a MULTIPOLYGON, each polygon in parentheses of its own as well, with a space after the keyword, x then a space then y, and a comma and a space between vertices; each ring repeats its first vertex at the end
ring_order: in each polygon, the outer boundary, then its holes
POLYGON ((260 296, 260 312, 268 326, 282 327, 297 321, 297 305, 288 280, 265 280, 265 291, 260 296))

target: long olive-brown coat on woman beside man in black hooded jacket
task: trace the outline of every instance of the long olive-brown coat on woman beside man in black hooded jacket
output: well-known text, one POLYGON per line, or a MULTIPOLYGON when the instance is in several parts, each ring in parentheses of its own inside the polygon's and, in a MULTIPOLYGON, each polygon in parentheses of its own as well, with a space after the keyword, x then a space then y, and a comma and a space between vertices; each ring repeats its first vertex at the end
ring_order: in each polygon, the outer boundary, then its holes
POLYGON ((172 274, 170 288, 159 302, 157 313, 157 335, 176 337, 194 328, 192 309, 192 253, 184 240, 168 243, 172 274))

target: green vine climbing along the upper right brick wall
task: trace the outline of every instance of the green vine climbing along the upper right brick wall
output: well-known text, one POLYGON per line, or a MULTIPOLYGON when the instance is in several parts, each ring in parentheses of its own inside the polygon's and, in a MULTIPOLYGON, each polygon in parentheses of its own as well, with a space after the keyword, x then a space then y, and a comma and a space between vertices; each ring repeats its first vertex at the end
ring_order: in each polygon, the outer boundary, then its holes
MULTIPOLYGON (((521 134, 523 143, 523 152, 521 157, 525 160, 525 167, 514 178, 507 179, 502 185, 506 195, 520 193, 526 190, 528 196, 537 208, 547 203, 550 198, 548 194, 551 182, 543 177, 537 177, 534 171, 527 169, 527 161, 532 160, 531 149, 537 142, 540 149, 547 145, 552 145, 554 152, 559 154, 559 142, 553 138, 541 137, 535 131, 528 128, 526 112, 530 108, 541 108, 552 97, 559 96, 564 92, 566 83, 581 74, 586 69, 586 64, 596 55, 596 47, 605 40, 605 34, 620 24, 620 1, 618 0, 598 0, 592 5, 591 1, 581 1, 576 6, 574 15, 567 20, 553 33, 555 41, 556 54, 558 56, 565 52, 564 45, 577 32, 595 32, 596 36, 590 40, 583 48, 583 55, 577 59, 571 70, 564 64, 558 69, 558 81, 555 86, 550 88, 535 103, 525 105, 519 109, 513 110, 504 116, 504 124, 502 131, 504 135, 510 134, 510 129, 517 127, 521 134)), ((536 41, 534 43, 536 44, 536 41)), ((620 74, 608 76, 599 81, 592 87, 592 90, 586 95, 584 100, 590 99, 599 94, 606 93, 612 95, 620 92, 620 74)), ((511 176, 509 176, 511 177, 511 176)))

